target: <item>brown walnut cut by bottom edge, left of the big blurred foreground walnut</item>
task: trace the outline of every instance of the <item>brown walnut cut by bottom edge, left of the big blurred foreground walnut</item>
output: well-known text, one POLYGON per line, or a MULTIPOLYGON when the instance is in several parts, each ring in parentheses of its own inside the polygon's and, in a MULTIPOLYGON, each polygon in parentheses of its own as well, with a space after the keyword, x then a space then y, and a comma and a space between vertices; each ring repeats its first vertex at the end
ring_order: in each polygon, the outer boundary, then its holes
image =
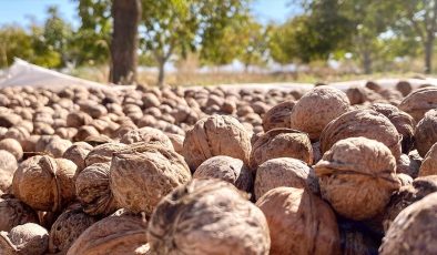
POLYGON ((71 245, 68 255, 145 255, 146 223, 141 216, 116 213, 88 227, 71 245))

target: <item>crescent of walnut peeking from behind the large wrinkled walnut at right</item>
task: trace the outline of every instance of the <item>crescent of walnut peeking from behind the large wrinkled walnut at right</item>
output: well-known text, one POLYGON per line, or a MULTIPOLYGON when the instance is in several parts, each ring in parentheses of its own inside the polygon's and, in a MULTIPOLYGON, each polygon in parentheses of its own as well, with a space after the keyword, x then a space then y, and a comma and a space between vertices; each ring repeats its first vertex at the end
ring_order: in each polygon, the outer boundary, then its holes
POLYGON ((414 131, 416 122, 408 113, 386 103, 375 103, 372 110, 383 113, 395 125, 397 132, 403 135, 402 151, 408 153, 414 143, 414 131))

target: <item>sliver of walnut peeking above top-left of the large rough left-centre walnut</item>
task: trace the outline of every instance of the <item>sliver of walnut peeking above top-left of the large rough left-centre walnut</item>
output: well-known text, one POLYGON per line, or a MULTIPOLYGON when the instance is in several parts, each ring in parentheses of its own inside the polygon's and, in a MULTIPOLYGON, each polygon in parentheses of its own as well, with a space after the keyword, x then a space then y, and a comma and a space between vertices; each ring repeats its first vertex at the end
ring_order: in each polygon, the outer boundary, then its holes
POLYGON ((85 165, 90 166, 95 163, 111 162, 112 155, 128 147, 123 143, 104 143, 93 147, 85 157, 85 165))

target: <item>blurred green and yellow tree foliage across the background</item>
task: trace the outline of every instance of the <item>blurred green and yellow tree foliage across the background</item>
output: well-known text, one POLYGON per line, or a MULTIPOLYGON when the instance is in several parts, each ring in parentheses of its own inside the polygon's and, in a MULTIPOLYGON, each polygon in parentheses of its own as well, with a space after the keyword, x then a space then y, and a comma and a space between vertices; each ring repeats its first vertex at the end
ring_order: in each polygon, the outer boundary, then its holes
MULTIPOLYGON (((0 68, 14 57, 48 68, 111 63, 111 0, 75 0, 73 28, 55 7, 42 24, 0 28, 0 68)), ((141 0, 140 65, 196 58, 200 65, 350 64, 350 72, 394 71, 420 59, 431 73, 437 0, 291 0, 304 11, 284 23, 260 23, 250 0, 141 0)), ((162 82, 162 81, 160 81, 162 82)))

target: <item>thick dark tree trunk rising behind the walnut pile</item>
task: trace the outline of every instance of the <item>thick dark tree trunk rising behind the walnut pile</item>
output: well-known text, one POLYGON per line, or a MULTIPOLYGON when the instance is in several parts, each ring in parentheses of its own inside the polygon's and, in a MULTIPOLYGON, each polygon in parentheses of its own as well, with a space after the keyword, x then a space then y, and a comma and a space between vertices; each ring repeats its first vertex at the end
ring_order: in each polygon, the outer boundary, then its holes
POLYGON ((111 43, 113 83, 132 83, 136 79, 138 26, 141 0, 113 0, 113 34, 111 43))

